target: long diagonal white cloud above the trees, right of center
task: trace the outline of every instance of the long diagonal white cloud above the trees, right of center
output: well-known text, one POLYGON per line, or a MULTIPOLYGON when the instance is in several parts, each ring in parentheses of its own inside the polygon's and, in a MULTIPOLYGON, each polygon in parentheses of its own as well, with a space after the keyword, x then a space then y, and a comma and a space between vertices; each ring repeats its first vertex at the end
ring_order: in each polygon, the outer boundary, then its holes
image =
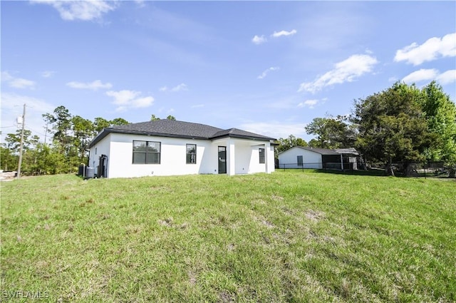
POLYGON ((375 57, 369 55, 353 55, 350 58, 336 63, 333 70, 328 71, 323 76, 316 78, 315 81, 301 83, 298 91, 308 91, 316 93, 326 86, 352 82, 356 78, 370 73, 373 66, 378 61, 375 57))

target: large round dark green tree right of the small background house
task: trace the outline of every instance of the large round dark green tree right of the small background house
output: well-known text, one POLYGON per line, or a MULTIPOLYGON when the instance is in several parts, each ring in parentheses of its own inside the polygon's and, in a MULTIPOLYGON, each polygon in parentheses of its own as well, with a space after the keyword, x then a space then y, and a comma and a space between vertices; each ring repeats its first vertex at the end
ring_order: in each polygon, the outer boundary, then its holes
POLYGON ((356 147, 371 160, 385 163, 388 175, 394 175, 393 162, 403 162, 406 167, 423 160, 423 152, 430 146, 420 98, 418 88, 397 82, 355 103, 356 147))

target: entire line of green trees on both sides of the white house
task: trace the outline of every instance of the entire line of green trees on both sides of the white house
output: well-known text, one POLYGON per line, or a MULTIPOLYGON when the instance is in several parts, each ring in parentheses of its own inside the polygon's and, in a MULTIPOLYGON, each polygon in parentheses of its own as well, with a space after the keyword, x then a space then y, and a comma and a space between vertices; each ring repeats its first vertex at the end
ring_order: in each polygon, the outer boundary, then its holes
MULTIPOLYGON (((150 120, 159 120, 151 115, 150 120)), ((168 115, 168 120, 175 117, 168 115)), ((22 172, 25 175, 73 173, 87 163, 88 144, 103 128, 125 125, 123 118, 93 121, 71 115, 64 106, 43 115, 44 142, 24 131, 22 172)), ((393 174, 393 163, 441 161, 456 173, 456 106, 435 81, 419 89, 394 83, 390 88, 360 98, 350 115, 314 118, 305 127, 314 138, 306 142, 289 135, 279 138, 276 155, 294 146, 356 148, 369 163, 383 163, 393 174)), ((1 169, 16 170, 21 131, 6 135, 0 146, 1 169)))

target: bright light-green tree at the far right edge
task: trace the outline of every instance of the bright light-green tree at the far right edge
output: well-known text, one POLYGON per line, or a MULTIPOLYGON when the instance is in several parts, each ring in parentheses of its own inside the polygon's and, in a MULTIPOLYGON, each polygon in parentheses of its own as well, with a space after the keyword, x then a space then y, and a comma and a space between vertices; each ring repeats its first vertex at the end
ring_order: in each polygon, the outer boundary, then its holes
POLYGON ((428 160, 443 161, 450 168, 450 177, 456 175, 456 106, 442 86, 432 81, 422 89, 420 106, 425 113, 427 127, 435 141, 425 150, 428 160))

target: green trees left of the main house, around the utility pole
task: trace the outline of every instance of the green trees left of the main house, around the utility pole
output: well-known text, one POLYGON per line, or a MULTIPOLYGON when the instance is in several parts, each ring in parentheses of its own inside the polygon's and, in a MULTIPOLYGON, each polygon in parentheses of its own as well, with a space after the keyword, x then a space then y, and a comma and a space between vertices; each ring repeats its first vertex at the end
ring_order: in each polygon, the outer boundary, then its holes
MULTIPOLYGON (((88 145, 103 128, 125 125, 124 118, 107 120, 97 117, 88 120, 80 115, 72 115, 65 106, 58 106, 52 113, 45 113, 45 137, 43 142, 31 130, 24 129, 21 175, 54 175, 74 173, 78 166, 88 162, 88 145)), ((150 120, 160 120, 151 115, 150 120)), ((167 120, 175 120, 172 115, 167 120)), ((0 145, 1 170, 17 170, 21 130, 6 135, 0 145)))

